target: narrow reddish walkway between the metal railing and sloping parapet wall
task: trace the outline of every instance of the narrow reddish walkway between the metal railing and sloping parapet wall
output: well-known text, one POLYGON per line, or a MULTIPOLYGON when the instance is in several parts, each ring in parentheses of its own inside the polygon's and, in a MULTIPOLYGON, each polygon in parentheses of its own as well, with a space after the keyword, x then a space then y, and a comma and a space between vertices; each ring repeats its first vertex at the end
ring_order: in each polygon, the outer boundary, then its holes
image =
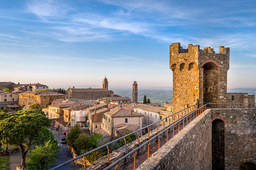
MULTIPOLYGON (((194 117, 196 118, 196 116, 194 117)), ((176 120, 176 119, 175 119, 176 120)), ((193 121, 193 114, 191 116, 191 121, 193 121)), ((190 121, 190 117, 188 119, 188 124, 191 122, 190 121)), ((175 121, 176 122, 176 121, 175 121)), ((172 122, 173 123, 173 122, 172 122)), ((186 122, 184 123, 184 127, 186 126, 186 122)), ((175 128, 178 127, 178 125, 175 126, 175 128)), ((180 125, 180 130, 183 129, 183 125, 180 125)), ((178 133, 178 128, 176 130, 174 130, 174 135, 178 133)), ((168 133, 168 141, 173 137, 173 129, 170 129, 170 133, 168 133)), ((160 141, 160 148, 166 143, 166 133, 165 133, 165 139, 160 141)), ((158 143, 156 143, 156 145, 152 148, 149 148, 149 157, 155 153, 158 150, 158 143)), ((133 154, 134 155, 134 154, 133 154)), ((138 158, 136 157, 135 159, 135 168, 137 169, 140 164, 142 164, 143 162, 145 162, 148 158, 148 153, 145 152, 144 154, 140 155, 138 158)), ((132 161, 126 168, 124 168, 124 170, 133 170, 134 169, 134 161, 132 161)))

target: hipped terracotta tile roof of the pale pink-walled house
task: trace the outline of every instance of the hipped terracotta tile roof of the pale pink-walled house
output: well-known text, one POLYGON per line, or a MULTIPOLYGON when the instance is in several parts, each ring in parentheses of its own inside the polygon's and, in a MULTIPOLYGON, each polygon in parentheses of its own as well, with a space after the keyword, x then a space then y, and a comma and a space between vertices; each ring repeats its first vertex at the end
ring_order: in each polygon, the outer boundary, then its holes
POLYGON ((109 112, 106 112, 110 117, 134 117, 134 116, 144 116, 140 113, 136 113, 134 111, 129 111, 124 108, 114 108, 113 110, 110 109, 109 112), (131 114, 130 114, 131 112, 131 114))

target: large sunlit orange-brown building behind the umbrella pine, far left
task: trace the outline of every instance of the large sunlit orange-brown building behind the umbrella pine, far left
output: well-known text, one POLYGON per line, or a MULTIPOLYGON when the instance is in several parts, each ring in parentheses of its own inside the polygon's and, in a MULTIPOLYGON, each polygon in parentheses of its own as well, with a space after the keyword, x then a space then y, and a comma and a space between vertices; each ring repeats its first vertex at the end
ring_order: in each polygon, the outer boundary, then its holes
POLYGON ((66 95, 61 93, 55 92, 23 92, 18 94, 19 95, 19 105, 22 106, 25 104, 25 109, 28 108, 30 104, 39 103, 41 108, 44 106, 48 106, 51 104, 52 101, 56 99, 65 99, 66 95))

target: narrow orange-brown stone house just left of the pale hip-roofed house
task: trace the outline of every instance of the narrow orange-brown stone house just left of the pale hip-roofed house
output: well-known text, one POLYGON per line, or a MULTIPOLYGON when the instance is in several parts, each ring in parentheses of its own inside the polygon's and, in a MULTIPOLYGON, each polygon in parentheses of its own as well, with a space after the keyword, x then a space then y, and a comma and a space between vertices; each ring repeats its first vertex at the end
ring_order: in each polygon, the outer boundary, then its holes
POLYGON ((90 112, 88 114, 88 120, 89 120, 89 129, 91 133, 93 133, 96 130, 101 129, 101 120, 104 115, 104 113, 108 112, 108 108, 103 107, 98 110, 94 110, 94 112, 90 112))

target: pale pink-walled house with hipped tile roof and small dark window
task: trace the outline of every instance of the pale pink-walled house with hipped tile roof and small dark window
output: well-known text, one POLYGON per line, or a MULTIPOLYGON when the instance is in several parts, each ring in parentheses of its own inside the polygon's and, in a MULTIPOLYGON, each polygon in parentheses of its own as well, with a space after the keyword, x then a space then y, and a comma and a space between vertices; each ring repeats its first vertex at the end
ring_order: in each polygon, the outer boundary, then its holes
POLYGON ((119 124, 132 124, 142 128, 142 119, 144 115, 124 108, 113 108, 109 112, 104 113, 102 117, 102 129, 114 136, 116 134, 115 127, 119 124))

